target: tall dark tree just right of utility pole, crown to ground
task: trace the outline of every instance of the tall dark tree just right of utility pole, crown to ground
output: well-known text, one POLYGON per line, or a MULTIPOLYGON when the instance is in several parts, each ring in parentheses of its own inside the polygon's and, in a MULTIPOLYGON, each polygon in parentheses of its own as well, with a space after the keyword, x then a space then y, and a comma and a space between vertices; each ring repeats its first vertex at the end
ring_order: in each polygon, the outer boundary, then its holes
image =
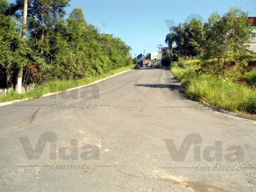
MULTIPOLYGON (((16 0, 9 9, 10 14, 18 19, 22 18, 23 2, 16 0)), ((63 46, 65 40, 62 38, 65 28, 64 8, 69 2, 70 0, 28 1, 28 35, 25 44, 27 50, 25 57, 28 62, 24 64, 23 70, 30 79, 27 83, 45 79, 44 74, 47 74, 47 69, 52 67, 50 64, 56 60, 57 54, 61 52, 60 49, 65 48, 63 46), (31 79, 30 74, 36 79, 31 79)), ((24 77, 23 82, 26 82, 24 77)))

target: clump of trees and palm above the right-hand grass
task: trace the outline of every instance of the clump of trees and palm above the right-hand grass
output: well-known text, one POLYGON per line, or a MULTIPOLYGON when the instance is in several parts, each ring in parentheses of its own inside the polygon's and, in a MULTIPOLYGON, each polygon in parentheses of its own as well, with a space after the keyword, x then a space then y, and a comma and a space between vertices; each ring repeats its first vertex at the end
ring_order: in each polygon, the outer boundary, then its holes
POLYGON ((208 60, 215 60, 209 67, 224 75, 232 58, 243 74, 248 62, 255 60, 248 51, 251 35, 252 20, 248 19, 248 12, 234 7, 223 16, 213 13, 204 24, 192 19, 190 23, 174 26, 165 41, 172 50, 172 61, 194 56, 206 64, 208 60))

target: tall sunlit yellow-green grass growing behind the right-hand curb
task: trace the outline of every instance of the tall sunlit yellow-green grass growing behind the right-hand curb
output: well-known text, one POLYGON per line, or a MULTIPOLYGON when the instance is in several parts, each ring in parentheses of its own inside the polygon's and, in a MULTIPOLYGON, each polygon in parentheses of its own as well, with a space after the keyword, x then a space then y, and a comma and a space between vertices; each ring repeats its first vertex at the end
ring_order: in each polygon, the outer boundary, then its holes
POLYGON ((255 87, 250 88, 214 74, 198 74, 193 67, 173 66, 171 71, 186 85, 185 91, 191 98, 204 100, 216 107, 233 112, 256 114, 255 87))

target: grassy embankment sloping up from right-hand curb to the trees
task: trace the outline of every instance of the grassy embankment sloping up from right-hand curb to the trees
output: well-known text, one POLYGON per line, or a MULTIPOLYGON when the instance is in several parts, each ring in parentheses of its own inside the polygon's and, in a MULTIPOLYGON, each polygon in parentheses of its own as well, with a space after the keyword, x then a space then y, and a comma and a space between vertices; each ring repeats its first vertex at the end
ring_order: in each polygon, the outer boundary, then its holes
POLYGON ((232 112, 256 114, 256 68, 248 68, 244 75, 229 68, 225 77, 219 77, 192 59, 174 62, 171 71, 191 98, 232 112))

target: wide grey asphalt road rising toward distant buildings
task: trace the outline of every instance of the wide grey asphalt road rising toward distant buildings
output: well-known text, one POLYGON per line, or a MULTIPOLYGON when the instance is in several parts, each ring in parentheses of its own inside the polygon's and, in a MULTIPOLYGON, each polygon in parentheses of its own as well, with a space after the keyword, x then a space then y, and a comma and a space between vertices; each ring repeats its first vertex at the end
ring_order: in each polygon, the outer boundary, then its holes
POLYGON ((184 97, 168 70, 0 107, 1 192, 252 192, 255 158, 256 124, 184 97))

